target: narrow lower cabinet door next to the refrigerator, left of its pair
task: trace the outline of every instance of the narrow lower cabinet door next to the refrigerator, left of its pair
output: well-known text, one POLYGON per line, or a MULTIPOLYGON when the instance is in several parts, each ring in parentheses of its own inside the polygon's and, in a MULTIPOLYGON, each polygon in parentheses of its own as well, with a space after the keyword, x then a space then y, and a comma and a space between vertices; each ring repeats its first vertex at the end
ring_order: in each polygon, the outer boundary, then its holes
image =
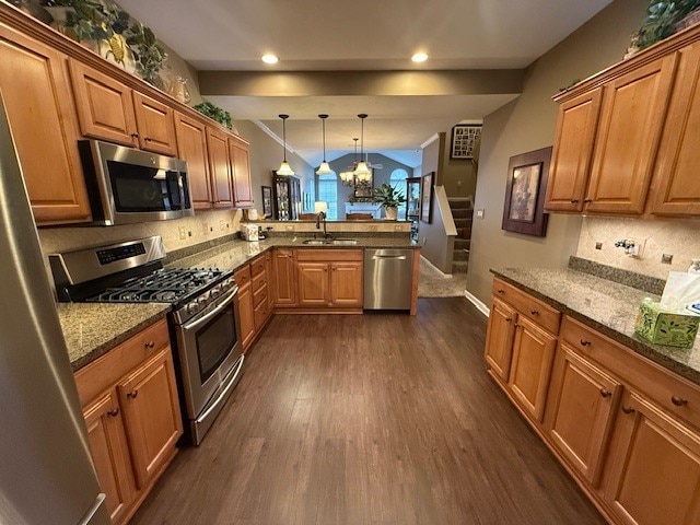
POLYGON ((133 474, 119 401, 108 392, 84 410, 88 442, 113 523, 120 523, 133 501, 133 474))

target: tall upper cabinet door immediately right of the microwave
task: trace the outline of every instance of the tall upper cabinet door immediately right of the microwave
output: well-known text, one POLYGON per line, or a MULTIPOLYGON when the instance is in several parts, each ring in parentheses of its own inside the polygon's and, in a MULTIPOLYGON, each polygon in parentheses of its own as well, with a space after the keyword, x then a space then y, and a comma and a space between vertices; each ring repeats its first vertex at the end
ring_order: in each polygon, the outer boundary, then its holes
POLYGON ((189 196, 196 210, 212 206, 207 129, 199 120, 175 113, 177 156, 187 162, 189 196))

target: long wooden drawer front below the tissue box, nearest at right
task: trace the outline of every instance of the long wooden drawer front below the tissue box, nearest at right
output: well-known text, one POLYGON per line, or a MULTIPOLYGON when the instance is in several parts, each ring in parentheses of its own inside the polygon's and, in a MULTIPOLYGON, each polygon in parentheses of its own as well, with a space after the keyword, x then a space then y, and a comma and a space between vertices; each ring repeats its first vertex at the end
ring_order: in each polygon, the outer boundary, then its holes
POLYGON ((576 351, 605 365, 665 411, 700 429, 700 386, 571 317, 564 318, 561 331, 563 339, 576 351))

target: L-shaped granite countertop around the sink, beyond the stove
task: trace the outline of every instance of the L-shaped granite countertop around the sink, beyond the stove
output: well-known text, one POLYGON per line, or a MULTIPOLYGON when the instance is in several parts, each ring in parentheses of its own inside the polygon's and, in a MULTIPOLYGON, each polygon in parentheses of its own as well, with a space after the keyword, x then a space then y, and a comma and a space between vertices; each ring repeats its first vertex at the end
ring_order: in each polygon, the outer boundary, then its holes
POLYGON ((207 250, 173 260, 167 264, 171 268, 182 267, 213 267, 222 270, 235 270, 250 259, 270 248, 308 248, 308 249, 364 249, 364 248, 420 248, 408 236, 406 237, 371 237, 353 236, 352 234, 336 236, 336 238, 357 238, 358 244, 350 245, 310 245, 304 241, 308 236, 271 236, 264 241, 246 242, 232 241, 207 250))

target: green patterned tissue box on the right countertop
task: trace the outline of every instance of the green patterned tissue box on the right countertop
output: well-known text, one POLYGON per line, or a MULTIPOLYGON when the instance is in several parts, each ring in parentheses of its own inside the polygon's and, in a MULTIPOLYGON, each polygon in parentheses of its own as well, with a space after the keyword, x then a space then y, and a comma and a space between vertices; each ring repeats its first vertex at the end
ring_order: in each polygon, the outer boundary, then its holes
POLYGON ((691 348, 698 335, 700 316, 664 312, 658 303, 645 299, 639 305, 634 331, 656 345, 691 348))

